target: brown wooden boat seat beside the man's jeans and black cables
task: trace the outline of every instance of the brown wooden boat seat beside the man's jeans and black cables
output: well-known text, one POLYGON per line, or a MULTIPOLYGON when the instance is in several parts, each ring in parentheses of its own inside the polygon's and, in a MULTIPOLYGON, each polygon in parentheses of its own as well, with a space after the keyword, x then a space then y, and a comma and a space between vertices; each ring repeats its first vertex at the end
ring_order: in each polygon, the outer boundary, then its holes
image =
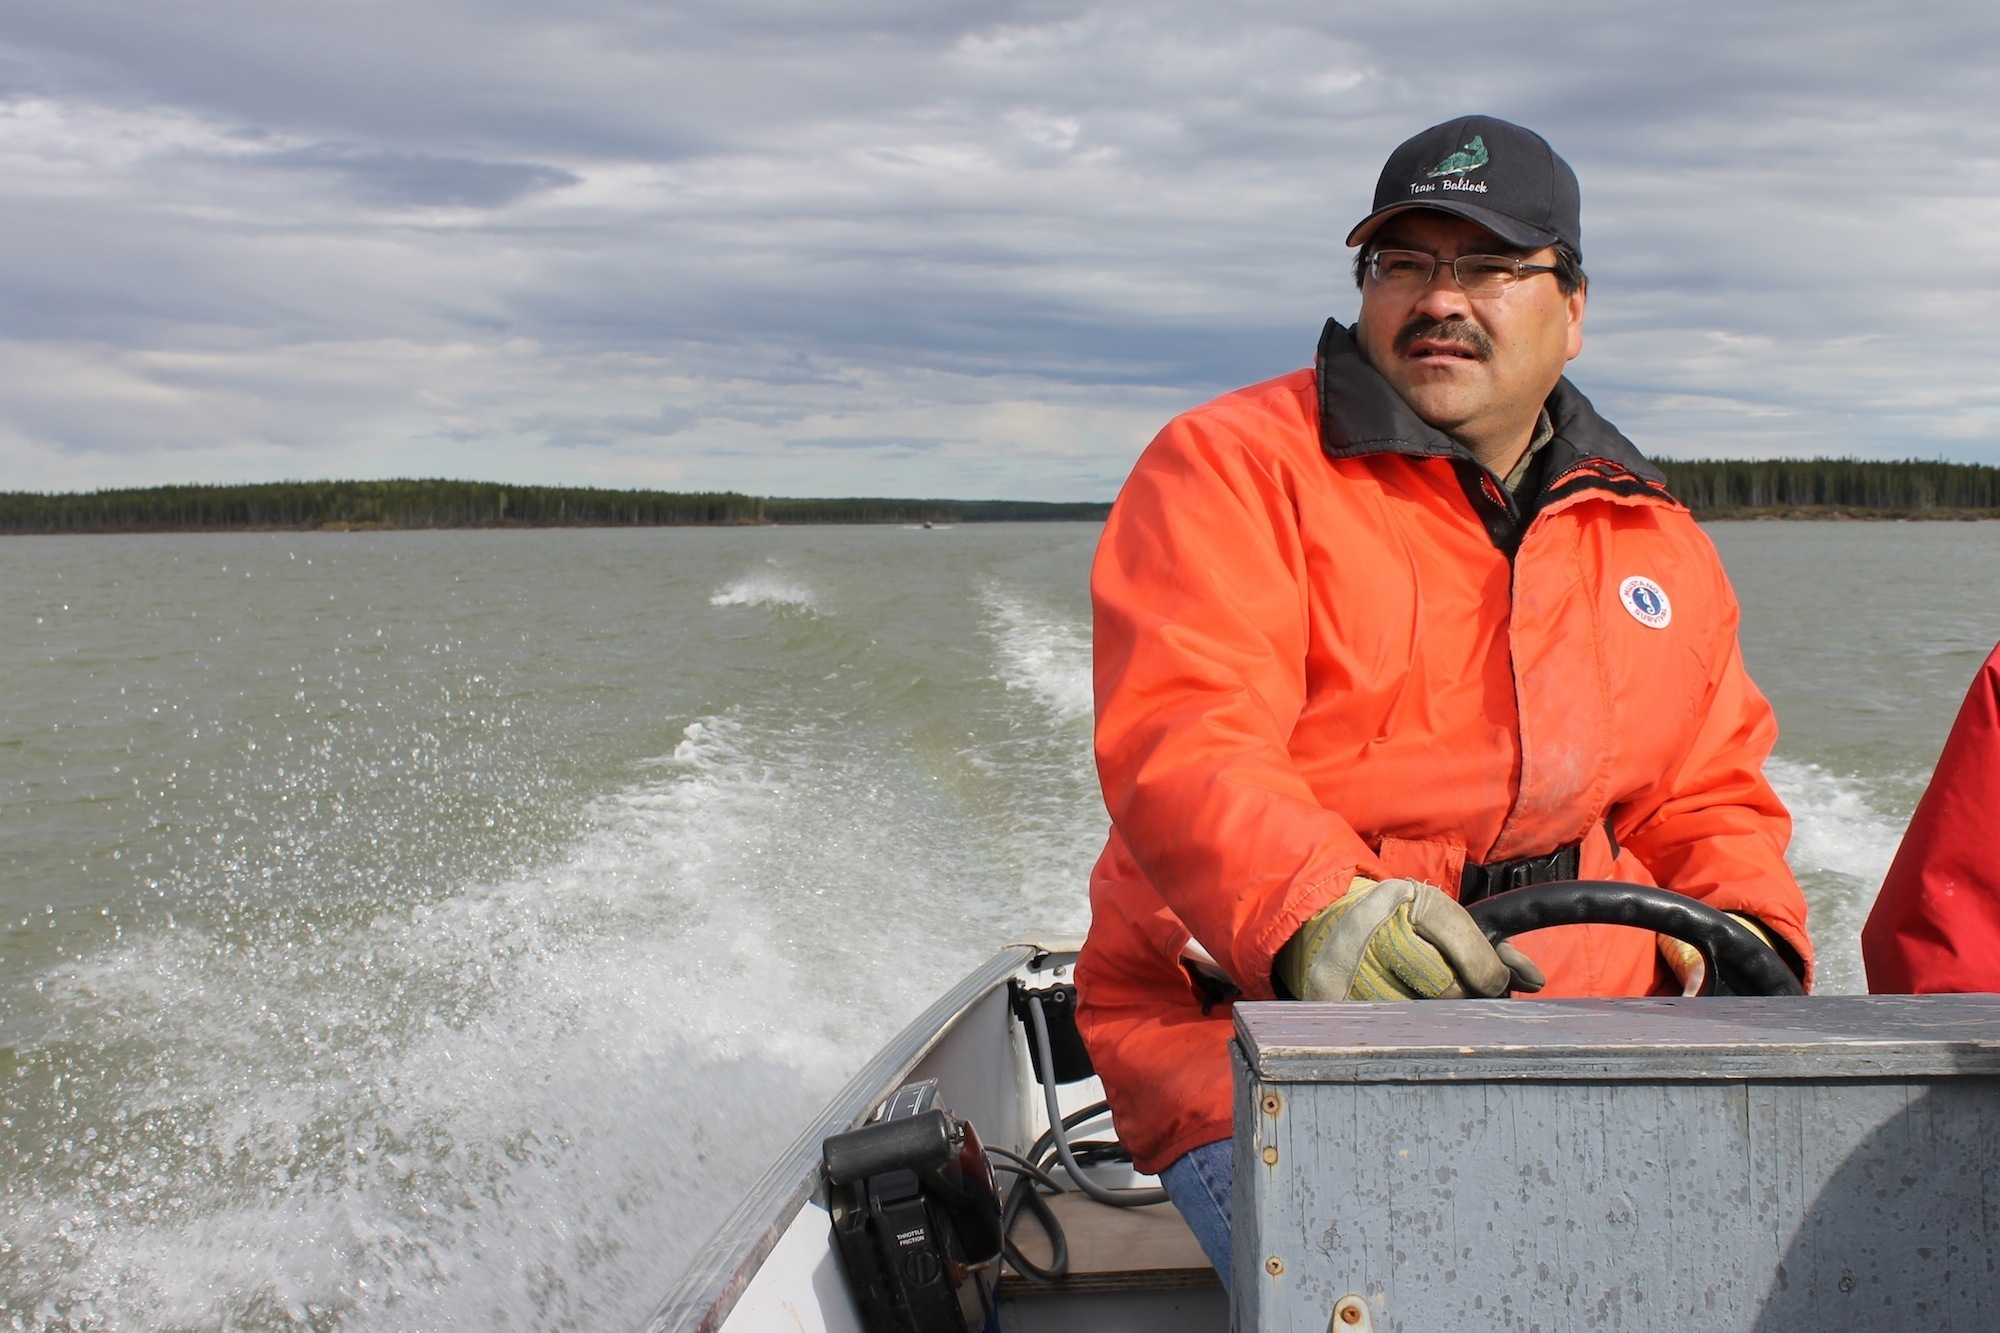
MULTIPOLYGON (((1178 1291, 1218 1287, 1188 1223, 1172 1203, 1146 1209, 1114 1209, 1090 1195, 1070 1193, 1048 1199, 1070 1241, 1070 1277, 1060 1287, 1042 1287, 1008 1269, 1000 1277, 1002 1297, 1044 1291, 1178 1291)), ((1050 1257, 1048 1237, 1032 1215, 1014 1223, 1014 1245, 1036 1265, 1050 1257)))

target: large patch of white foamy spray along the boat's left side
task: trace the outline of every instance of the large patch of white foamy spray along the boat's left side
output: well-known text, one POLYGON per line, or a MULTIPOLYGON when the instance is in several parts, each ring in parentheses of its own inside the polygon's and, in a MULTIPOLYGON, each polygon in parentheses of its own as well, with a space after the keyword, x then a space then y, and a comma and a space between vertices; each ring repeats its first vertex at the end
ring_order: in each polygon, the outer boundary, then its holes
MULTIPOLYGON (((758 743, 730 717, 690 725, 532 877, 234 941, 180 927, 52 975, 70 1017, 50 1111, 112 1129, 60 1143, 94 1159, 68 1185, 16 1193, 0 1309, 20 1327, 642 1319, 884 1037, 870 1015, 908 999, 860 985, 830 1005, 824 951, 794 961, 774 899, 800 875, 770 865, 794 839, 770 831, 802 793, 758 743)), ((884 985, 904 981, 930 985, 884 985)))

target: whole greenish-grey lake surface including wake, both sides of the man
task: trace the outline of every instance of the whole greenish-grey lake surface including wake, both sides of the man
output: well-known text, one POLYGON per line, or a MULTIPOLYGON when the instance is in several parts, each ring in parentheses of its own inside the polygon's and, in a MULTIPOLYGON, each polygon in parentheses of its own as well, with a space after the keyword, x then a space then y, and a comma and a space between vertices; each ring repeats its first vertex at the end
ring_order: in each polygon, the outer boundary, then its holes
MULTIPOLYGON (((1832 989, 2000 524, 1712 528, 1832 989)), ((1084 524, 0 542, 0 1327, 624 1327, 1086 921, 1084 524)))

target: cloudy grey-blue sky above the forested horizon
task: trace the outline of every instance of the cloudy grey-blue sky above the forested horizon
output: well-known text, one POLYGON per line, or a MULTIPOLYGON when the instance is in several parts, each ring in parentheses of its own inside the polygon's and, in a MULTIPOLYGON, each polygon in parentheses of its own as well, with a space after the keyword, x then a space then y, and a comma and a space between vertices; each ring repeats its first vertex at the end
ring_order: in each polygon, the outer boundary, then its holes
POLYGON ((2000 462, 2000 6, 0 0, 0 490, 1092 500, 1388 152, 1582 180, 1656 456, 2000 462))

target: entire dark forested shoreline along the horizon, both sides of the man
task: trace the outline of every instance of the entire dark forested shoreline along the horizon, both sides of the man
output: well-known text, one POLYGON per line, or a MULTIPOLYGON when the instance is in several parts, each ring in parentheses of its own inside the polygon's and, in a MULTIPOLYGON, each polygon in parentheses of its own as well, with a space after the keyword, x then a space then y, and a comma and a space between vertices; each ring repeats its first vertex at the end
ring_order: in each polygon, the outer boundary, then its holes
MULTIPOLYGON (((1856 458, 1658 458, 1700 518, 2000 518, 2000 468, 1856 458)), ((1102 520, 1108 502, 784 498, 466 480, 0 492, 0 532, 740 526, 1102 520)))

